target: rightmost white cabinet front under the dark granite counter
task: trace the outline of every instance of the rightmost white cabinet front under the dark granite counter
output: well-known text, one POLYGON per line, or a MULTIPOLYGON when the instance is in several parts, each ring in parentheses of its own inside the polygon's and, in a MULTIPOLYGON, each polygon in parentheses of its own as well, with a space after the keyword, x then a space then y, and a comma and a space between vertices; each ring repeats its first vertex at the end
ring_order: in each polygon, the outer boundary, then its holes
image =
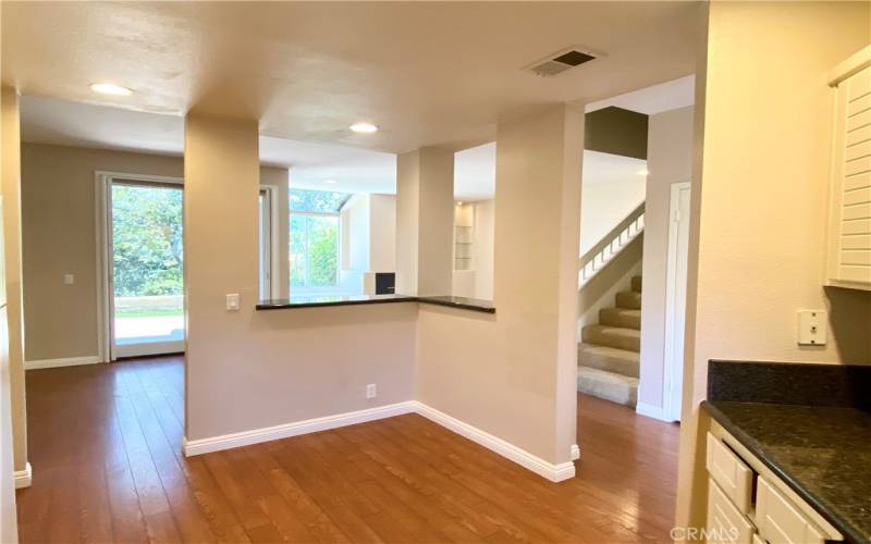
POLYGON ((764 478, 757 486, 756 522, 763 539, 776 544, 825 542, 822 532, 764 478))

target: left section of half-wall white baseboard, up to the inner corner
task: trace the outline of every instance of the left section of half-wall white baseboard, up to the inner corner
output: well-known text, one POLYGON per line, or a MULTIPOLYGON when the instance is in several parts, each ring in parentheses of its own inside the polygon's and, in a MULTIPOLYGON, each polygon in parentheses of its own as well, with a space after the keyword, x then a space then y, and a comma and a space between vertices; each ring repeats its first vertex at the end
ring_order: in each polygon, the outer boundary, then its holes
POLYGON ((296 421, 293 423, 285 423, 283 425, 267 426, 263 429, 255 429, 253 431, 243 431, 240 433, 212 436, 210 438, 188 441, 187 437, 184 437, 184 455, 192 457, 195 455, 220 452, 222 449, 230 449, 233 447, 248 446, 250 444, 259 444, 261 442, 289 438, 291 436, 298 436, 300 434, 316 433, 318 431, 327 431, 330 429, 338 429, 340 426, 365 423, 367 421, 375 421, 377 419, 392 418, 394 416, 410 413, 413 411, 415 411, 415 403, 414 400, 408 400, 405 403, 379 406, 377 408, 369 408, 366 410, 296 421))

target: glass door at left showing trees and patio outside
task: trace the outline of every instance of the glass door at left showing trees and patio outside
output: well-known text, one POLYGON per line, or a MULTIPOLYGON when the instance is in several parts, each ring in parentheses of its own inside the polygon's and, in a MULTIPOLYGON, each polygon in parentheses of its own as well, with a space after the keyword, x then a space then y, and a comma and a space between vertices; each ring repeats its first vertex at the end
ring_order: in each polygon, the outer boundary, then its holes
POLYGON ((182 185, 113 180, 112 359, 184 350, 182 185))

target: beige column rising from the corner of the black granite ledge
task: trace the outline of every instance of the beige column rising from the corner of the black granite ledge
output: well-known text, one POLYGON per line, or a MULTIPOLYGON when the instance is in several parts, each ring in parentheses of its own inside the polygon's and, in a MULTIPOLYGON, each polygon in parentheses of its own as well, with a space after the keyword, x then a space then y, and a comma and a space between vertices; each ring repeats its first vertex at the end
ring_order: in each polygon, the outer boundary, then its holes
POLYGON ((425 147, 396 158, 396 293, 450 295, 454 153, 425 147))

